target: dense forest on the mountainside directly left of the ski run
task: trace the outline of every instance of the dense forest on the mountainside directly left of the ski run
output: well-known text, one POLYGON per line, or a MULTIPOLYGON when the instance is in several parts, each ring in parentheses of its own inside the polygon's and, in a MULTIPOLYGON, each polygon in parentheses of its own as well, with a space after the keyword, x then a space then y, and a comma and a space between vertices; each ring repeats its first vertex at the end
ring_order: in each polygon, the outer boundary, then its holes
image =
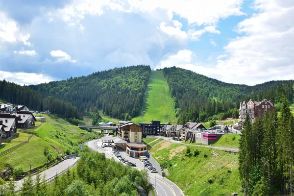
POLYGON ((150 71, 144 65, 122 67, 29 88, 42 98, 51 96, 71 102, 79 112, 97 108, 113 118, 130 120, 141 111, 150 71))

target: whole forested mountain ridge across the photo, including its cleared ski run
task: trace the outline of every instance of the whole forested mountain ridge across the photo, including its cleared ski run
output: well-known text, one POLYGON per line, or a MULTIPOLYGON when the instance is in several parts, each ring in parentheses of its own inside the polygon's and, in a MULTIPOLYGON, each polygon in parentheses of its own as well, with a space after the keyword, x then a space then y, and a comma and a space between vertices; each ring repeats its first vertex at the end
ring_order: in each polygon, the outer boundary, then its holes
MULTIPOLYGON (((30 86, 3 80, 0 81, 0 99, 35 110, 49 109, 67 119, 82 120, 91 112, 98 121, 99 115, 95 114, 100 110, 116 119, 131 120, 144 111, 145 121, 172 116, 172 122, 177 119, 176 123, 183 124, 197 119, 206 122, 238 118, 240 102, 250 98, 269 99, 279 110, 283 95, 289 103, 293 102, 293 84, 293 80, 269 81, 255 86, 230 84, 175 67, 151 74, 150 66, 138 65, 30 86)), ((142 117, 137 120, 141 121, 142 117)))

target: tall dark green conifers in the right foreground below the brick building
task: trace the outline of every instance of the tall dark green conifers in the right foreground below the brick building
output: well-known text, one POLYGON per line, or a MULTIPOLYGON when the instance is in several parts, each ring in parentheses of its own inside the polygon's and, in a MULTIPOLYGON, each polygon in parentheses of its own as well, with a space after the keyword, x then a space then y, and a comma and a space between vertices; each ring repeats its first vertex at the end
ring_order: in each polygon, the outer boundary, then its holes
POLYGON ((285 96, 280 112, 265 112, 254 123, 247 115, 243 124, 239 173, 245 195, 293 193, 294 118, 285 96))

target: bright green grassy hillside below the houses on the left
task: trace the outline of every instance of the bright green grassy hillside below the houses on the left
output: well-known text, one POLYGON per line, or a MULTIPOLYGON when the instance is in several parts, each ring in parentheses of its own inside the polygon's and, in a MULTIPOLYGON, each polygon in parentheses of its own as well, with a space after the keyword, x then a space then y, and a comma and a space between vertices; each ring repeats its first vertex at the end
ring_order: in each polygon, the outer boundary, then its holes
POLYGON ((88 137, 96 136, 96 134, 82 130, 64 119, 56 118, 53 115, 42 114, 41 116, 46 117, 46 123, 24 129, 26 133, 19 133, 16 138, 7 143, 5 149, 9 147, 9 144, 18 144, 26 140, 28 133, 34 134, 28 144, 0 158, 0 171, 5 170, 5 163, 9 163, 12 167, 22 164, 25 170, 28 170, 30 165, 32 168, 38 167, 47 163, 47 157, 44 155, 45 147, 49 147, 49 150, 55 155, 57 154, 56 151, 65 154, 66 149, 69 149, 70 153, 74 153, 78 151, 79 143, 83 143, 88 137))

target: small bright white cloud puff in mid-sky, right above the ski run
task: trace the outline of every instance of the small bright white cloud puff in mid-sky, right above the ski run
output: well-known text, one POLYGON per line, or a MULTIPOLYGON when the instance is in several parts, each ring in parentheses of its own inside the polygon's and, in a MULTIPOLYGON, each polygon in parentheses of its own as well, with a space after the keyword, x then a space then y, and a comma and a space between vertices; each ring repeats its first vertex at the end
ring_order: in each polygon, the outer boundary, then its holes
POLYGON ((169 36, 174 36, 177 39, 180 39, 181 41, 187 41, 188 35, 185 31, 181 30, 182 24, 178 21, 173 21, 173 26, 167 26, 165 22, 160 24, 160 30, 169 36))

